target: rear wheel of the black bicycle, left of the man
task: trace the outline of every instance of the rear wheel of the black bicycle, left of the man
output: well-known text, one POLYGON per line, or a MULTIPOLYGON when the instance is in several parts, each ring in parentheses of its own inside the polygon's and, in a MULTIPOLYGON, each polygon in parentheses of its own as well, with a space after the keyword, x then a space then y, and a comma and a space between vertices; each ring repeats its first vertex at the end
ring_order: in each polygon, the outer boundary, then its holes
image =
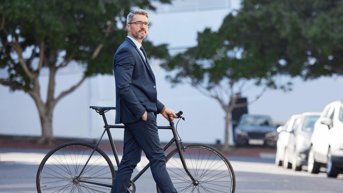
POLYGON ((37 171, 37 191, 39 193, 111 192, 115 170, 111 160, 99 148, 95 149, 80 179, 103 183, 110 187, 73 182, 73 178, 79 175, 93 149, 92 144, 75 141, 59 145, 49 151, 37 171))

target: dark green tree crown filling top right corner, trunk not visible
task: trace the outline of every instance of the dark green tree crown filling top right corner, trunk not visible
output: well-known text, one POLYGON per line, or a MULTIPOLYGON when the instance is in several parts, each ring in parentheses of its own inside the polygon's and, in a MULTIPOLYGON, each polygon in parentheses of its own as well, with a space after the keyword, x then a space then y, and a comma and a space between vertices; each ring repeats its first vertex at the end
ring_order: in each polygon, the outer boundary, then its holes
POLYGON ((305 80, 342 75, 342 12, 342 0, 243 1, 235 27, 251 32, 244 45, 258 45, 280 73, 305 80))

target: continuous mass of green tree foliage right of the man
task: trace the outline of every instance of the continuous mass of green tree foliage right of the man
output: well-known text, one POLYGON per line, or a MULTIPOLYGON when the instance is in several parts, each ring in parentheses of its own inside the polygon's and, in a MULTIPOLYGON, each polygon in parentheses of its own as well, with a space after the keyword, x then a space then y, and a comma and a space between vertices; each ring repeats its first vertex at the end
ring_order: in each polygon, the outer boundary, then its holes
MULTIPOLYGON (((244 0, 217 32, 198 33, 198 46, 162 67, 175 70, 173 82, 190 78, 208 88, 221 80, 267 80, 276 74, 343 74, 343 0, 244 0), (235 13, 235 12, 234 12, 235 13)), ((283 85, 284 89, 289 85, 283 85)))

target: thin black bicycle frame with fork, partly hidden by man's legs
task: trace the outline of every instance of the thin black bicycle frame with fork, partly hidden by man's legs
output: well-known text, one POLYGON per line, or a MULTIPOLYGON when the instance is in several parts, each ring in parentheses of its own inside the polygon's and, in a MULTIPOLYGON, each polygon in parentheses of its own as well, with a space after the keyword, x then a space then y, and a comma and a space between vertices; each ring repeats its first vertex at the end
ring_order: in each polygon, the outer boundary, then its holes
MULTIPOLYGON (((108 185, 108 184, 103 184, 103 183, 97 183, 97 182, 92 182, 92 181, 84 181, 84 180, 81 180, 80 179, 80 176, 81 174, 83 173, 84 169, 86 168, 87 164, 88 164, 88 161, 91 159, 91 157, 93 156, 94 154, 94 151, 95 149, 98 147, 101 139, 103 138, 105 132, 107 132, 107 135, 108 135, 108 139, 109 139, 109 142, 111 144, 111 148, 112 148, 112 151, 113 151, 113 155, 116 159, 116 163, 117 163, 117 166, 119 166, 119 158, 118 158, 118 153, 117 153, 117 150, 116 150, 116 147, 114 146, 114 143, 113 143, 113 138, 112 138, 112 135, 111 135, 111 132, 110 132, 110 128, 124 128, 124 125, 108 125, 107 124, 107 120, 106 120, 106 117, 105 117, 105 112, 98 112, 100 115, 102 115, 103 117, 103 120, 104 120, 104 123, 105 123, 105 130, 103 132, 103 134, 101 135, 101 137, 99 138, 99 140, 97 141, 91 155, 89 156, 87 162, 85 163, 84 167, 82 168, 80 174, 78 175, 78 178, 74 179, 74 180, 78 180, 79 182, 84 182, 84 183, 90 183, 90 184, 96 184, 96 185, 102 185, 102 186, 106 186, 106 187, 112 187, 111 185, 108 185)), ((169 116, 169 115, 168 115, 169 116)), ((177 132, 176 132, 176 129, 175 129, 175 126, 174 126, 174 122, 171 121, 170 119, 170 116, 169 116, 169 125, 170 126, 157 126, 158 129, 170 129, 172 132, 173 132, 173 135, 174 137, 163 147, 163 150, 165 151, 171 144, 173 144, 173 142, 175 142, 176 144, 176 147, 179 151, 179 155, 180 155, 180 159, 181 159, 181 163, 182 163, 182 166, 184 167, 186 173, 188 174, 188 176, 190 177, 190 179, 193 181, 193 184, 196 185, 198 184, 199 182, 197 180, 195 180, 195 178, 193 177, 193 175, 190 173, 187 165, 186 165, 186 159, 185 159, 185 156, 184 156, 184 152, 182 151, 185 147, 182 145, 182 141, 179 140, 178 136, 177 136, 177 132)), ((146 164, 146 166, 132 179, 133 182, 137 181, 137 179, 150 167, 150 163, 146 164)))

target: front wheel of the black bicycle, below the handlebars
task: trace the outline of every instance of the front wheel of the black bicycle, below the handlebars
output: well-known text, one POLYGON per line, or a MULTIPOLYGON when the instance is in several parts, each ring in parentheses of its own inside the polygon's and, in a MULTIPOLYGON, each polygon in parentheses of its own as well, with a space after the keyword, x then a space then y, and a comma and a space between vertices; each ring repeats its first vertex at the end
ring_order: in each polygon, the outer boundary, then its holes
MULTIPOLYGON (((186 164, 199 182, 193 185, 190 177, 182 167, 178 149, 166 157, 166 168, 174 187, 179 193, 186 192, 226 192, 234 193, 235 173, 227 158, 217 149, 204 144, 185 146, 186 164)), ((157 193, 161 193, 156 185, 157 193)))

